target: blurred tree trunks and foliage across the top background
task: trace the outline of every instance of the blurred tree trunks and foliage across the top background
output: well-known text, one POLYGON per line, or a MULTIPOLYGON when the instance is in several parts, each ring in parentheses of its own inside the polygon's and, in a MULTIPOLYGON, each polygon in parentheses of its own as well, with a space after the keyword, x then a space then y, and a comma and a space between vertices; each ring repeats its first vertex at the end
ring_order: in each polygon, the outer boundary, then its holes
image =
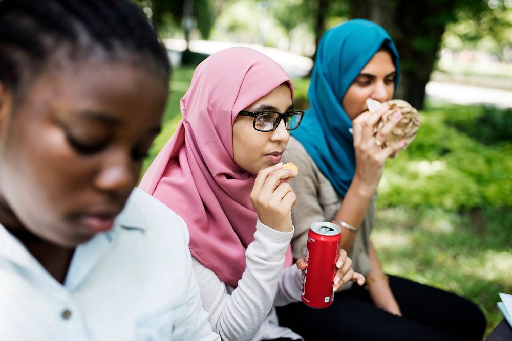
POLYGON ((151 8, 156 27, 165 26, 169 21, 181 25, 183 4, 193 1, 197 28, 205 38, 221 10, 227 8, 224 5, 234 9, 236 5, 251 3, 253 6, 246 4, 244 7, 258 8, 250 14, 251 19, 230 15, 226 20, 225 15, 221 15, 223 28, 232 32, 244 27, 247 35, 249 27, 251 34, 262 35, 263 26, 259 21, 265 19, 268 26, 267 15, 270 15, 274 25, 288 35, 289 46, 291 32, 298 26, 307 27, 317 45, 328 28, 348 18, 372 20, 390 33, 400 54, 401 81, 396 96, 419 109, 423 107, 425 85, 442 43, 453 50, 485 47, 499 60, 512 60, 512 0, 137 1, 151 8), (268 12, 263 13, 262 8, 268 12))

